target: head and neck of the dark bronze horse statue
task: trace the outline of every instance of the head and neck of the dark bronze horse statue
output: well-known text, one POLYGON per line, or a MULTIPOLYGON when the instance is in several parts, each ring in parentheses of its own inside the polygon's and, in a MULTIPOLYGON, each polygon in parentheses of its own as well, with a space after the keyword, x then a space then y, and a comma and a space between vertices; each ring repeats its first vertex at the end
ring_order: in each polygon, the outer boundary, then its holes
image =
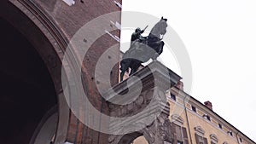
POLYGON ((161 17, 160 21, 154 25, 150 34, 154 35, 154 37, 161 38, 163 35, 166 34, 166 27, 167 27, 167 19, 161 17))

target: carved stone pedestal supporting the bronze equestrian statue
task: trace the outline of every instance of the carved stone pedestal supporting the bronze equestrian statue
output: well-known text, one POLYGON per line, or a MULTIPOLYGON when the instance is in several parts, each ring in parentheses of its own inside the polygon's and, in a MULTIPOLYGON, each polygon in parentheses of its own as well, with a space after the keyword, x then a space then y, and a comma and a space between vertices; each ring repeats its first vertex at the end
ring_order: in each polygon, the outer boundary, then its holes
POLYGON ((166 90, 180 81, 158 61, 150 63, 105 95, 110 109, 109 144, 130 144, 144 135, 149 144, 172 143, 166 90))

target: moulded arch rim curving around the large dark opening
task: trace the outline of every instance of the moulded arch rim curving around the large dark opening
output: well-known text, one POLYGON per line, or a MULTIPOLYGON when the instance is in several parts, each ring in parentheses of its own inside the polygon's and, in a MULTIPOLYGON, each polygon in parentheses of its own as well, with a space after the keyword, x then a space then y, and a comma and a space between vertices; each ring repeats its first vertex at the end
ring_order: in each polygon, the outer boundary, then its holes
POLYGON ((38 52, 44 60, 44 65, 55 87, 58 103, 58 127, 55 142, 64 142, 67 139, 69 109, 62 94, 61 86, 61 57, 65 48, 66 38, 38 9, 32 9, 32 1, 3 0, 0 2, 0 17, 14 26, 38 52))

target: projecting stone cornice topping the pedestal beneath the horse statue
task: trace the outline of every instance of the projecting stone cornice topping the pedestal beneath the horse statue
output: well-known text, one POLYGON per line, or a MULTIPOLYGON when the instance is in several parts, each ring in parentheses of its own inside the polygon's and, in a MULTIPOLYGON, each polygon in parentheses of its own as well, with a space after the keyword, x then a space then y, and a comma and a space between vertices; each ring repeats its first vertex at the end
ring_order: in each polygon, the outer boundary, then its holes
POLYGON ((166 91, 177 84, 181 79, 182 78, 178 76, 177 73, 172 72, 172 70, 161 64, 159 61, 153 61, 148 66, 143 67, 143 69, 132 75, 132 77, 113 86, 112 89, 109 89, 105 93, 104 97, 106 98, 106 101, 112 100, 117 94, 122 95, 126 94, 129 89, 137 89, 141 86, 140 84, 143 84, 142 92, 145 89, 152 89, 154 87, 166 91), (134 79, 131 80, 131 78, 134 79))

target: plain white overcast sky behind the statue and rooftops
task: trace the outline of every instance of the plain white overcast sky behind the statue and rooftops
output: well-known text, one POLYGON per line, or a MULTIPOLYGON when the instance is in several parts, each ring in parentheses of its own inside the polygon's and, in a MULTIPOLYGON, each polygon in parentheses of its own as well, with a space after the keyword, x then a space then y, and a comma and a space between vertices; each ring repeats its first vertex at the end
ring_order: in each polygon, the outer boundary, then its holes
MULTIPOLYGON (((256 141, 256 1, 123 0, 122 6, 168 19, 192 63, 193 88, 186 92, 212 101, 214 112, 256 141)), ((130 38, 122 31, 121 42, 130 38)), ((180 74, 168 56, 166 66, 180 74)))

